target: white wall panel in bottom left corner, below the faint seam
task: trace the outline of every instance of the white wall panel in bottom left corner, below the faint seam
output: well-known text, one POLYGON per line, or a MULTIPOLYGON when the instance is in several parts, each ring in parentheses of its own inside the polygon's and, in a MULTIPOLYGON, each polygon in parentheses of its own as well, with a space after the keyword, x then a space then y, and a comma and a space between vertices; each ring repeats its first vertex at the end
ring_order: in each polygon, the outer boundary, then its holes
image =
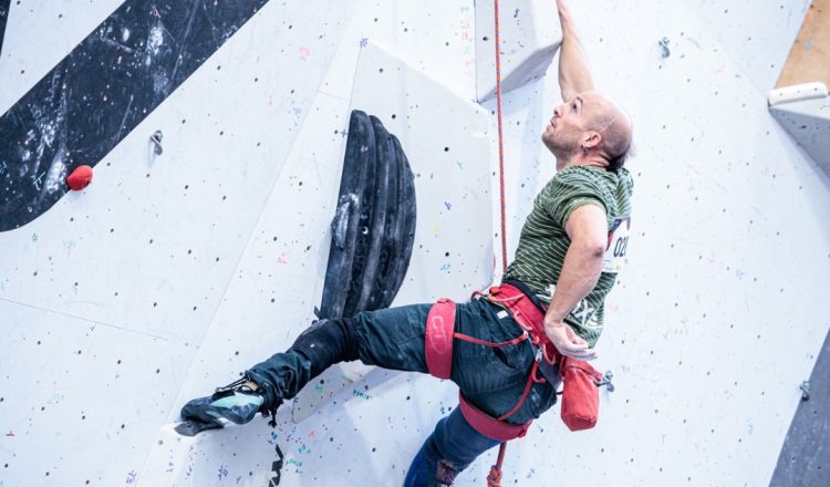
POLYGON ((137 475, 193 348, 4 300, 0 317, 2 485, 137 475))

